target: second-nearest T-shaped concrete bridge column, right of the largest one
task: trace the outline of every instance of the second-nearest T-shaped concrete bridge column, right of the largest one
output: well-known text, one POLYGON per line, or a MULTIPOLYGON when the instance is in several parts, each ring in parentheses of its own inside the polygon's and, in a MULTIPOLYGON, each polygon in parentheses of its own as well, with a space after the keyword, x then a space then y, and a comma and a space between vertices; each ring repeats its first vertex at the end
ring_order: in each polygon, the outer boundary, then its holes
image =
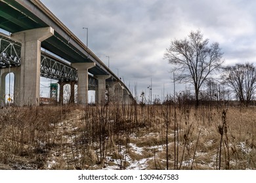
POLYGON ((77 69, 77 103, 88 104, 88 69, 95 67, 95 63, 72 63, 77 69))

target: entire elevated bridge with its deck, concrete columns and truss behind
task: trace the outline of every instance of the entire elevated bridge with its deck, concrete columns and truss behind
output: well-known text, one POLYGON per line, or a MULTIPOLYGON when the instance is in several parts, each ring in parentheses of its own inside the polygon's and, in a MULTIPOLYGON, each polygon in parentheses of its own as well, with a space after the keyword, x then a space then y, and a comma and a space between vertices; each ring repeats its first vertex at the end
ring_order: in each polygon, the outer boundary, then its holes
POLYGON ((5 76, 11 70, 15 75, 14 102, 20 106, 39 105, 40 75, 59 80, 60 90, 66 82, 72 86, 76 83, 77 102, 81 104, 88 103, 90 87, 96 91, 99 104, 105 103, 106 93, 110 101, 133 101, 114 72, 40 1, 0 0, 0 28, 11 33, 0 35, 0 100, 5 76), (42 52, 42 48, 67 63, 42 52))

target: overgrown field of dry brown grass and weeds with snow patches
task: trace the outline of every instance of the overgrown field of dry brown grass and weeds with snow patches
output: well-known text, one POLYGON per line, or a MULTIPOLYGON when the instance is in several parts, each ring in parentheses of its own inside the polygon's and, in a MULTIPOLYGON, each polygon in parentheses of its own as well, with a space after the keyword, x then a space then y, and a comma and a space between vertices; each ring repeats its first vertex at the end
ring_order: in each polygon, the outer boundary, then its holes
POLYGON ((256 169, 256 108, 0 109, 0 169, 256 169))

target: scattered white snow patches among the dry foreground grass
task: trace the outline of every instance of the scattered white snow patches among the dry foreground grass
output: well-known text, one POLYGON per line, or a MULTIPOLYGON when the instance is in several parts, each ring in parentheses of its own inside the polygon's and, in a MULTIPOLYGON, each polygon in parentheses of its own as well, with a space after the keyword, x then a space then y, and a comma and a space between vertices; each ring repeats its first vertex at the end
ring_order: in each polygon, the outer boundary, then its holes
MULTIPOLYGON (((64 121, 61 122, 60 124, 58 124, 58 133, 60 133, 59 135, 62 135, 62 141, 68 143, 68 144, 72 144, 72 142, 74 142, 74 139, 77 138, 77 135, 63 135, 63 133, 66 133, 66 131, 75 131, 77 130, 77 127, 75 126, 74 123, 70 123, 69 121, 64 121)), ((148 133, 147 135, 144 135, 143 138, 148 138, 148 137, 154 137, 154 135, 156 135, 156 133, 148 133)), ((172 135, 172 134, 170 134, 172 135)), ((131 141, 132 140, 137 140, 138 141, 138 137, 136 137, 135 134, 131 135, 131 141)), ((173 142, 170 142, 168 145, 171 146, 173 142)), ((207 141, 206 142, 206 146, 212 146, 214 144, 213 140, 207 141)), ((192 144, 190 144, 192 146, 192 144)), ((166 163, 166 159, 165 159, 165 150, 166 150, 166 145, 165 144, 160 144, 157 146, 148 146, 148 147, 140 147, 137 146, 137 144, 135 143, 129 143, 129 150, 127 151, 125 146, 121 146, 121 151, 119 152, 119 154, 121 155, 121 158, 113 158, 113 153, 112 152, 108 152, 108 154, 106 155, 105 161, 104 161, 104 165, 88 165, 87 168, 89 169, 104 169, 104 170, 113 170, 113 169, 120 169, 121 164, 124 165, 125 163, 125 168, 123 168, 124 166, 122 166, 121 169, 127 169, 127 170, 143 170, 143 169, 148 169, 148 166, 150 164, 150 161, 158 161, 158 164, 161 163, 161 165, 164 165, 166 163), (153 151, 155 150, 156 152, 158 152, 158 154, 156 154, 154 156, 154 154, 152 154, 152 156, 147 156, 146 158, 144 158, 145 154, 149 151, 153 151), (126 153, 127 152, 127 153, 126 153), (133 153, 137 155, 138 158, 132 158, 129 154, 129 152, 133 153), (159 154, 162 154, 162 156, 160 157, 159 154)), ((182 148, 182 144, 181 144, 181 148, 182 148)), ((249 148, 245 142, 240 142, 240 144, 237 146, 238 149, 240 149, 242 152, 244 152, 245 154, 248 154, 249 152, 251 152, 251 148, 249 148)), ((95 150, 95 152, 98 152, 98 150, 95 150)), ((56 167, 56 165, 58 165, 59 161, 59 157, 62 156, 62 158, 68 158, 73 156, 72 155, 72 150, 70 148, 66 148, 65 152, 56 152, 53 151, 51 152, 51 156, 49 156, 48 161, 47 161, 47 169, 53 169, 54 167, 56 167), (61 154, 61 155, 60 155, 61 154)), ((79 159, 81 158, 81 155, 77 155, 77 157, 75 157, 75 159, 79 159)), ((192 163, 197 163, 198 166, 201 167, 201 169, 215 169, 216 167, 216 154, 215 153, 209 153, 209 152, 196 152, 195 154, 195 159, 193 160, 192 158, 184 158, 183 161, 181 161, 179 163, 179 167, 190 167, 192 165, 192 163), (209 155, 210 154, 210 155, 209 155), (195 159, 201 158, 201 157, 205 157, 205 156, 210 156, 211 161, 195 161, 195 159)), ((63 162, 62 162, 63 163, 63 162)), ((234 164, 236 162, 234 161, 230 161, 230 164, 234 164)), ((164 167, 161 167, 162 169, 165 169, 164 167)))

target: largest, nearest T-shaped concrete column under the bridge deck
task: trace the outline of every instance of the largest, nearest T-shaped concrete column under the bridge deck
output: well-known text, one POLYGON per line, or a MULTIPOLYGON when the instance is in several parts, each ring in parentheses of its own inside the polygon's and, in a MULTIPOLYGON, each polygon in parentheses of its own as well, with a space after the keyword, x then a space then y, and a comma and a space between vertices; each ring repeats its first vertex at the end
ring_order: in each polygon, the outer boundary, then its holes
POLYGON ((53 35, 52 27, 31 29, 11 35, 13 40, 22 43, 18 105, 39 105, 41 42, 53 35))

